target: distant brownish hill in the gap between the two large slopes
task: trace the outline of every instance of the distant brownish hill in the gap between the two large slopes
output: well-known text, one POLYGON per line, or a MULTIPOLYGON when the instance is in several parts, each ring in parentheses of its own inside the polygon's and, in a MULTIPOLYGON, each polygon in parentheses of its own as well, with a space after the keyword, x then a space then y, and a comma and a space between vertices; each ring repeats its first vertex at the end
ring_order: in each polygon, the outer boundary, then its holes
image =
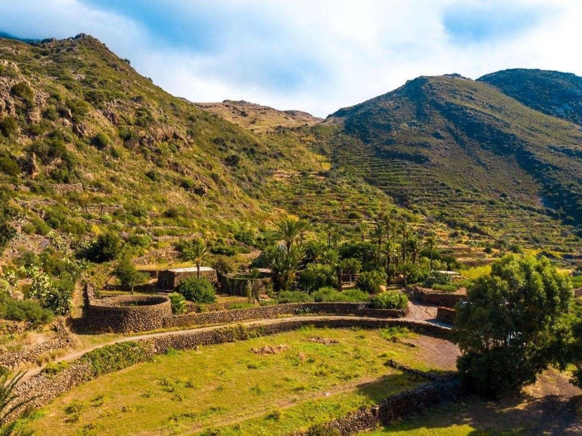
POLYGON ((257 133, 265 133, 278 127, 313 126, 323 121, 301 110, 278 110, 246 101, 225 100, 222 103, 193 104, 257 133))

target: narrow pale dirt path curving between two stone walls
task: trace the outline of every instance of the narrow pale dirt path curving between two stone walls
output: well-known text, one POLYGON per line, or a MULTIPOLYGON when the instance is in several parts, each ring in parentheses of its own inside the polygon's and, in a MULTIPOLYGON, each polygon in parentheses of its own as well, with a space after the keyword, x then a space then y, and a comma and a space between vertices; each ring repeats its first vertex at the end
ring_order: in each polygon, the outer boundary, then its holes
MULTIPOLYGON (((430 313, 426 312, 421 307, 422 306, 417 305, 416 303, 409 303, 409 308, 410 308, 409 316, 406 316, 404 318, 400 318, 400 320, 420 321, 420 322, 427 322, 427 323, 431 322, 432 323, 433 321, 430 320, 430 313)), ((158 332, 158 333, 147 333, 147 334, 135 335, 135 336, 124 336, 124 337, 112 339, 111 341, 102 342, 101 344, 92 345, 92 346, 88 346, 86 348, 81 348, 81 349, 72 351, 64 356, 61 356, 58 359, 55 359, 54 362, 62 362, 62 361, 71 362, 72 360, 78 359, 81 356, 83 356, 84 353, 93 351, 94 349, 101 348, 101 347, 106 346, 106 345, 119 344, 119 342, 139 341, 141 339, 178 335, 178 334, 182 334, 185 332, 208 331, 208 330, 214 330, 214 329, 222 328, 222 327, 226 327, 226 326, 237 325, 237 324, 242 324, 243 326, 249 326, 249 325, 256 325, 256 324, 275 324, 275 323, 280 323, 280 322, 288 321, 288 320, 310 320, 310 319, 315 319, 315 317, 314 316, 289 316, 289 317, 285 317, 285 318, 251 320, 251 321, 243 321, 243 322, 237 322, 237 323, 231 323, 231 324, 219 324, 219 325, 208 326, 208 327, 194 327, 194 328, 185 328, 183 330, 162 331, 162 332, 158 332)), ((365 318, 354 317, 354 316, 317 316, 317 319, 333 320, 333 319, 365 319, 365 318)), ((442 323, 439 323, 439 324, 442 324, 442 323)), ((446 324, 442 324, 442 325, 446 326, 446 324)), ((20 383, 22 383, 23 381, 29 380, 29 378, 31 378, 31 377, 36 376, 37 374, 40 373, 40 371, 42 371, 43 368, 44 368, 44 365, 27 371, 27 373, 24 374, 24 376, 20 379, 20 383)))

